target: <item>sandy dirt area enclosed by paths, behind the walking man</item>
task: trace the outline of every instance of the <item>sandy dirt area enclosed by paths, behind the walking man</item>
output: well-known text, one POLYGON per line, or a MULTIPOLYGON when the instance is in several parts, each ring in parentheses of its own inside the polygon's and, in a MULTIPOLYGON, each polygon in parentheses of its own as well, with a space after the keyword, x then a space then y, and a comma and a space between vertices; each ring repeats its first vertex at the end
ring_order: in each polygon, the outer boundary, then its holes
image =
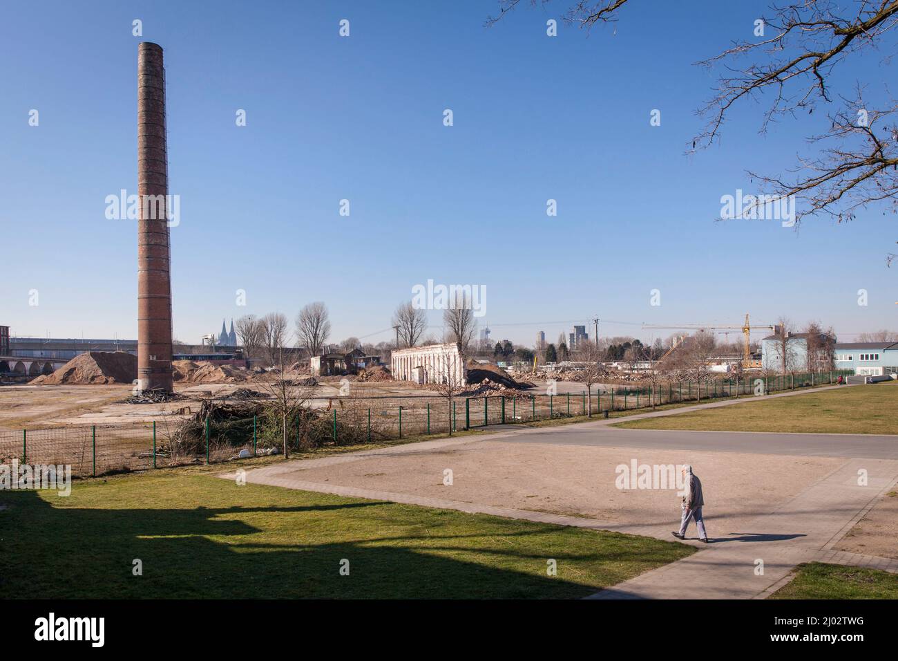
MULTIPOLYGON (((845 461, 829 457, 690 452, 477 441, 434 451, 302 469, 291 478, 615 523, 676 528, 676 489, 618 489, 620 464, 691 462, 702 479, 704 515, 712 537, 757 532, 744 523, 769 514, 845 461), (444 470, 453 485, 443 484, 444 470)), ((799 532, 799 531, 797 531, 799 532)))

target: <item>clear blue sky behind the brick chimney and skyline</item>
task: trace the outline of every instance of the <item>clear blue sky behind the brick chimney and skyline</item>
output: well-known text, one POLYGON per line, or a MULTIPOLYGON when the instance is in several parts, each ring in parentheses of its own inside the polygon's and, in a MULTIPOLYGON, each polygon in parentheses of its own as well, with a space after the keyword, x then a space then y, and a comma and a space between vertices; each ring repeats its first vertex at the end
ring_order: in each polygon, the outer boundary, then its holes
MULTIPOLYGON (((332 340, 390 339, 392 310, 428 279, 486 286, 481 322, 524 344, 575 321, 592 332, 595 316, 628 322, 602 335, 645 338, 641 322, 740 324, 746 312, 820 319, 844 339, 898 329, 891 210, 800 232, 714 220, 721 195, 756 192, 746 170, 781 173, 807 153, 816 118, 759 136, 764 106, 748 103, 719 146, 683 155, 714 83, 692 63, 751 38, 765 3, 634 0, 616 33, 559 22, 547 37, 567 6, 522 6, 487 28, 493 0, 5 4, 0 324, 136 337, 136 227, 106 219, 104 199, 136 192, 136 51, 150 40, 166 58, 182 341, 222 317, 292 319, 314 300, 330 308, 332 340)), ((841 71, 841 91, 865 76, 881 94, 894 67, 861 64, 841 71)))

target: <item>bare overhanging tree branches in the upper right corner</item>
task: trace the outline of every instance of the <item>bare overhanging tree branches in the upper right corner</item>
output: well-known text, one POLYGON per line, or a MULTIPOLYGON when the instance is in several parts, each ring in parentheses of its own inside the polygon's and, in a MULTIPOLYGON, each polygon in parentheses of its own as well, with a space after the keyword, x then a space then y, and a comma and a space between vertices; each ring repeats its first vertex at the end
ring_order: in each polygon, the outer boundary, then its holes
MULTIPOLYGON (((590 28, 614 22, 628 0, 568 0, 568 22, 590 28)), ((520 0, 499 0, 497 22, 520 0)), ((537 4, 531 0, 531 4, 537 4)), ((699 108, 706 124, 692 139, 690 152, 718 141, 735 106, 766 94, 761 132, 770 123, 811 115, 823 104, 830 108, 819 121, 819 132, 808 136, 814 154, 799 157, 789 174, 754 174, 773 199, 795 196, 805 202, 796 210, 796 224, 805 216, 827 214, 851 220, 858 208, 887 201, 896 206, 898 192, 898 102, 882 85, 884 101, 867 103, 865 85, 855 82, 852 95, 835 93, 840 65, 860 60, 859 68, 876 76, 895 46, 898 0, 791 0, 770 7, 768 16, 755 23, 756 40, 740 40, 718 55, 702 60, 704 67, 719 67, 715 93, 699 108), (760 28, 760 31, 759 31, 760 28), (878 55, 883 51, 883 55, 878 55), (878 106, 878 107, 877 107, 878 106)), ((878 83, 878 81, 876 81, 878 83)), ((877 90, 878 92, 878 90, 877 90)), ((880 96, 880 94, 874 94, 880 96)), ((810 123, 808 121, 805 122, 810 123)), ((814 129, 811 129, 814 130, 814 129)), ((898 255, 886 257, 891 264, 898 255)))

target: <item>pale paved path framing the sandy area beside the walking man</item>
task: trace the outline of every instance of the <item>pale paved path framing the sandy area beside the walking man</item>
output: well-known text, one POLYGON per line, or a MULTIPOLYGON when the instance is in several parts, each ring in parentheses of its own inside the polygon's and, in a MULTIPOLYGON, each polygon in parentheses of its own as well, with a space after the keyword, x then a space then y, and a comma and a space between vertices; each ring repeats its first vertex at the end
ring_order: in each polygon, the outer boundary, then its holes
MULTIPOLYGON (((805 391, 806 392, 806 391, 805 391)), ((788 397, 783 393, 770 397, 788 397)), ((753 400, 739 400, 753 401, 753 400)), ((737 402, 672 409, 655 414, 675 415, 686 410, 730 406, 737 402)), ((647 572, 594 594, 595 599, 642 598, 758 598, 770 594, 788 580, 798 563, 812 560, 883 568, 898 571, 898 561, 833 550, 846 532, 867 514, 885 492, 898 483, 898 436, 819 433, 730 433, 668 432, 629 430, 610 427, 617 421, 569 424, 542 428, 506 429, 500 433, 455 439, 409 443, 408 445, 359 451, 332 457, 302 460, 303 469, 360 461, 374 456, 430 453, 483 439, 503 442, 547 444, 596 444, 614 447, 665 448, 696 451, 734 451, 761 454, 835 456, 847 458, 829 475, 780 505, 769 514, 754 518, 744 530, 722 538, 711 534, 712 543, 700 544, 699 552, 665 567, 647 572), (867 471, 867 485, 858 486, 858 470, 867 471), (756 573, 762 561, 763 572, 756 573)), ((266 484, 386 500, 409 505, 453 509, 468 513, 493 514, 538 523, 557 523, 594 530, 619 531, 673 540, 669 526, 612 523, 577 516, 518 510, 493 505, 412 496, 357 487, 304 481, 295 461, 273 464, 247 472, 249 483, 266 484)), ((221 476, 234 478, 233 473, 221 476)), ((694 528, 691 529, 694 534, 694 528)))

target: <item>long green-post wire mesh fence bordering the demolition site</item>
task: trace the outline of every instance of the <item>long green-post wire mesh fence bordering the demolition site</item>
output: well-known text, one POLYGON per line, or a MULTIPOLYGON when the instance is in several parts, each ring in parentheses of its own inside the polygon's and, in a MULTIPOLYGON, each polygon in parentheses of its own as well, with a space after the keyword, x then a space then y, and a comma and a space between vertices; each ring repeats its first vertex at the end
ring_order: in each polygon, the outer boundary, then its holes
POLYGON ((152 422, 69 425, 0 431, 0 463, 71 465, 77 477, 216 463, 238 456, 357 445, 445 434, 496 424, 605 415, 677 403, 768 394, 835 383, 851 371, 832 371, 600 386, 579 393, 515 392, 482 397, 333 397, 326 406, 284 420, 262 415, 205 421, 163 416, 152 422))

